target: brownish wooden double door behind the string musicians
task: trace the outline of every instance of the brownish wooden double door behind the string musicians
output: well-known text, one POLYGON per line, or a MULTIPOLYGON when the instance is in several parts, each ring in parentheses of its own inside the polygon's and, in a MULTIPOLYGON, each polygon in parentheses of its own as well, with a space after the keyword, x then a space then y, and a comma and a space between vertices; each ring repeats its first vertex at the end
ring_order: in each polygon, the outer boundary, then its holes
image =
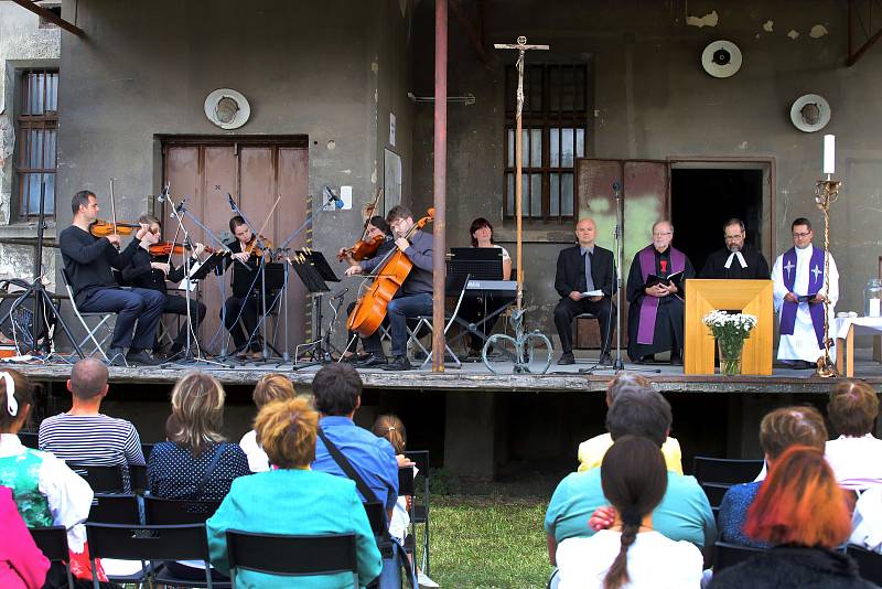
MULTIPOLYGON (((227 194, 232 195, 255 229, 276 246, 299 228, 309 212, 306 186, 309 157, 302 141, 265 141, 217 143, 197 140, 168 141, 163 146, 164 181, 171 183, 171 194, 176 204, 184 201, 184 223, 191 238, 206 245, 217 243, 198 227, 202 223, 223 242, 232 242, 229 219, 232 212, 227 194), (279 204, 265 225, 276 199, 279 204), (193 218, 195 217, 195 219, 193 218)), ((163 235, 171 238, 178 223, 169 218, 168 204, 163 212, 163 235)), ((308 233, 302 232, 290 247, 308 245, 308 233)), ((293 271, 289 272, 288 340, 290 351, 303 342, 308 323, 306 296, 303 285, 293 271)), ((208 277, 202 285, 202 300, 208 308, 201 330, 201 343, 212 353, 220 350, 222 338, 227 336, 220 326, 220 308, 230 296, 229 272, 223 279, 208 277)), ((271 325, 273 320, 269 321, 271 325)), ((284 351, 283 315, 279 333, 270 330, 269 339, 284 351)))

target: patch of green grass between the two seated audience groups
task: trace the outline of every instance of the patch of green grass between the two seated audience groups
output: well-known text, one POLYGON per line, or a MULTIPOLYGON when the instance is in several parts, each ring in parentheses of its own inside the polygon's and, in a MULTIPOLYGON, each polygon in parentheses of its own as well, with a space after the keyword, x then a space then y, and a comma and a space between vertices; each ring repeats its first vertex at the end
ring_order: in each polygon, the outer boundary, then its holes
POLYGON ((505 484, 478 493, 431 496, 432 579, 444 589, 544 588, 551 571, 542 531, 548 495, 505 484))

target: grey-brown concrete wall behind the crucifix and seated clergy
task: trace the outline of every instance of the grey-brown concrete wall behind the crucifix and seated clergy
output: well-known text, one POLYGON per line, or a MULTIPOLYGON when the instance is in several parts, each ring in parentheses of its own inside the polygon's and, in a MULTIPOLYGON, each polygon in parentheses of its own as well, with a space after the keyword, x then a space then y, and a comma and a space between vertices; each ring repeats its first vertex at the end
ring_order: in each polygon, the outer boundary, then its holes
MULTIPOLYGON (((882 254, 878 229, 882 47, 871 49, 856 66, 845 66, 842 2, 488 0, 483 4, 486 47, 526 35, 528 42, 552 49, 550 55, 528 55, 528 63, 555 58, 593 63, 588 157, 774 158, 776 253, 792 245, 789 223, 796 216, 816 222, 816 245, 822 245, 822 216, 813 191, 820 178, 821 135, 835 133, 837 176, 843 181, 831 210, 831 251, 842 276, 837 309, 861 311, 863 286, 876 276, 876 257, 882 254), (716 79, 701 68, 701 51, 719 39, 741 47, 744 63, 734 77, 716 79), (804 133, 789 121, 790 105, 808 93, 821 94, 830 103, 832 119, 822 133, 804 133)), ((497 236, 508 246, 514 232, 513 223, 502 218, 503 83, 504 64, 512 63, 513 52, 487 49, 495 55, 486 65, 452 14, 450 22, 450 95, 473 93, 476 103, 451 105, 449 111, 448 242, 466 245, 469 223, 482 215, 496 225, 497 236)), ((415 92, 423 95, 432 92, 432 26, 433 9, 424 2, 417 11, 413 35, 415 92)), ((431 199, 431 117, 430 107, 417 109, 413 193, 424 204, 431 199)), ((572 243, 570 229, 548 224, 530 226, 526 233, 528 301, 539 307, 528 317, 547 333, 553 332, 549 318, 558 299, 551 285, 553 264, 558 251, 572 243)), ((645 238, 648 243, 649 227, 645 238)), ((611 240, 609 234, 599 238, 607 247, 611 240)))

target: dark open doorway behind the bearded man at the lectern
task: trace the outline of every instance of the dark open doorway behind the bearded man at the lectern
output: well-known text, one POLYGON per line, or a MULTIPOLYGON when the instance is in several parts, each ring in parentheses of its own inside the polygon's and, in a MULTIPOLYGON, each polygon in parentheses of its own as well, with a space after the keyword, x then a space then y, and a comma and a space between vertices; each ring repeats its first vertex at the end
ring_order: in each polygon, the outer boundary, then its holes
POLYGON ((708 256, 723 244, 723 223, 744 222, 746 243, 762 251, 763 171, 745 169, 673 169, 670 171, 674 244, 700 272, 708 256))

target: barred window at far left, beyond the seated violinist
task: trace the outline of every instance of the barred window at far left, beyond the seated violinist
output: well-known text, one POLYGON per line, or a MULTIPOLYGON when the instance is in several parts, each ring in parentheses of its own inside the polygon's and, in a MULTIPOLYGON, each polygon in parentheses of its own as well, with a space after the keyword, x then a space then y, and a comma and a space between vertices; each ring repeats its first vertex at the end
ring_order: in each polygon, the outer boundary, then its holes
POLYGON ((58 130, 58 72, 30 71, 21 77, 19 110, 19 216, 40 214, 40 192, 45 191, 45 213, 55 213, 55 139, 58 130))

